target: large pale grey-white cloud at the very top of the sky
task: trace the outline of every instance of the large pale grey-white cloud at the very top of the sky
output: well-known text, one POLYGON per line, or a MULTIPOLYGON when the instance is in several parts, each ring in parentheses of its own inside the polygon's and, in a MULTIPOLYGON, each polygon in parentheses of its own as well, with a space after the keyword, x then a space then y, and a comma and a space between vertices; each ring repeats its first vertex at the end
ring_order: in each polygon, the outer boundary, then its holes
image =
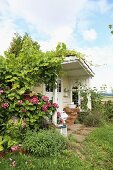
POLYGON ((8 0, 12 15, 22 17, 39 31, 50 33, 68 25, 74 27, 76 16, 88 0, 8 0))

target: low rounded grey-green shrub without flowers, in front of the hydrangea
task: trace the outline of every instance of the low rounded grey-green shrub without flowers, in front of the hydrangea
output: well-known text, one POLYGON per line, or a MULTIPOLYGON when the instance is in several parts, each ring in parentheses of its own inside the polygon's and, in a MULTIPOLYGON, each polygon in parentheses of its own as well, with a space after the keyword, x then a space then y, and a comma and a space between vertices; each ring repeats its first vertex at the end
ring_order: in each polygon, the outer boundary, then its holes
POLYGON ((61 153, 67 148, 67 140, 54 129, 27 131, 23 148, 37 156, 48 156, 61 153))

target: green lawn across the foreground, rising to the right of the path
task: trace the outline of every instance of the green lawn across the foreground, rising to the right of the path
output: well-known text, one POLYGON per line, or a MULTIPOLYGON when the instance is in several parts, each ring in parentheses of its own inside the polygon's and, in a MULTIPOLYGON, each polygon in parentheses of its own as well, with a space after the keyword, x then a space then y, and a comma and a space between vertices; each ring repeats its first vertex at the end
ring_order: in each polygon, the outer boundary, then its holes
POLYGON ((94 130, 79 146, 79 155, 76 147, 45 158, 10 153, 1 158, 0 170, 113 170, 112 124, 94 130))

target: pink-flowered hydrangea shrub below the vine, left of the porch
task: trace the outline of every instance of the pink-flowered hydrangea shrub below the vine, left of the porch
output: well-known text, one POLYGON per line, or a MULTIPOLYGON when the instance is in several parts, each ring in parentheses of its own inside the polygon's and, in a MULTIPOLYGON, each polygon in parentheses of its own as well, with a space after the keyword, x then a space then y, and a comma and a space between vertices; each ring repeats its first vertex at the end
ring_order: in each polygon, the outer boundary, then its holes
POLYGON ((0 89, 0 133, 6 147, 12 151, 18 149, 16 146, 22 142, 26 129, 43 128, 42 120, 51 122, 57 108, 58 104, 47 96, 32 92, 20 95, 18 91, 0 89))

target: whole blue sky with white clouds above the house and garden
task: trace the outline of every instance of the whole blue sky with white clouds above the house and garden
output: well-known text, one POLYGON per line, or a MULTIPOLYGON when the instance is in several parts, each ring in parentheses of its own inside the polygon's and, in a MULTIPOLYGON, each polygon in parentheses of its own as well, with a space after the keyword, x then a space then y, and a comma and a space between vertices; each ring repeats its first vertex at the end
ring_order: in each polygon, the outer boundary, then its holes
POLYGON ((15 32, 25 32, 42 50, 58 42, 86 54, 94 64, 92 86, 113 87, 113 0, 0 0, 0 53, 15 32))

